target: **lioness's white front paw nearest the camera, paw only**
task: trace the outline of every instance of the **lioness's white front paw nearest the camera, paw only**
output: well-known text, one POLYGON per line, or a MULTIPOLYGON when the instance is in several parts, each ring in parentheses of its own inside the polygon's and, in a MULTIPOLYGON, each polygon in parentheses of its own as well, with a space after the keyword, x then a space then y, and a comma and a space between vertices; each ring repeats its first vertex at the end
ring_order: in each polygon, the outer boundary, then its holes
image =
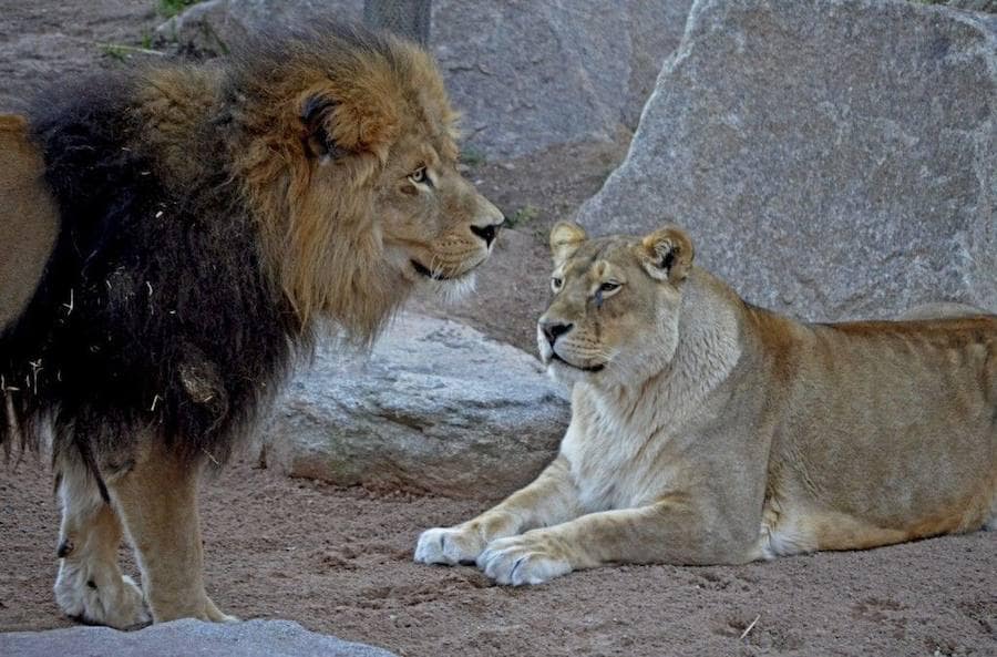
POLYGON ((477 557, 477 567, 498 584, 542 584, 567 575, 572 565, 539 532, 492 541, 477 557))

